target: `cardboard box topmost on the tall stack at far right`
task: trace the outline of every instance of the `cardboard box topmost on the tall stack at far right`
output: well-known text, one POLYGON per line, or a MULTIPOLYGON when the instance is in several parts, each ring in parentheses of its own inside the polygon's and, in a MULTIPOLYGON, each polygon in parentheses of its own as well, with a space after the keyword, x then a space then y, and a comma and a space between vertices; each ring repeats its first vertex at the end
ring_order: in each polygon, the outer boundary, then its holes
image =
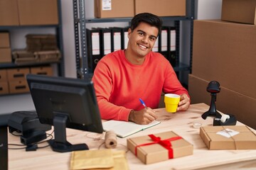
POLYGON ((256 1, 223 0, 221 19, 256 25, 256 1))

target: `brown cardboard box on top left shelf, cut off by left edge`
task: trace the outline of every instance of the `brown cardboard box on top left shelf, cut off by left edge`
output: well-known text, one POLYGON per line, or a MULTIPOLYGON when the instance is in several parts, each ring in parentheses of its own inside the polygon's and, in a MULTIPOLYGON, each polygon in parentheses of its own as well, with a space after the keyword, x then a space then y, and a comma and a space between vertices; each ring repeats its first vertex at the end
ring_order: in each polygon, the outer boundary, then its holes
POLYGON ((0 1, 0 26, 18 26, 18 4, 16 0, 0 1))

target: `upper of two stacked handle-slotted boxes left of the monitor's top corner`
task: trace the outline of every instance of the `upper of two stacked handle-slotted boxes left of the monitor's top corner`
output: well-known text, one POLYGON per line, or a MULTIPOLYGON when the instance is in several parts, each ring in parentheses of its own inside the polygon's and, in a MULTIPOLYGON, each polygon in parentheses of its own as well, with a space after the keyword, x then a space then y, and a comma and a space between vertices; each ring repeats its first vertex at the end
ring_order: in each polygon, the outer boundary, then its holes
POLYGON ((26 80, 26 74, 29 68, 7 69, 7 77, 9 81, 26 80))

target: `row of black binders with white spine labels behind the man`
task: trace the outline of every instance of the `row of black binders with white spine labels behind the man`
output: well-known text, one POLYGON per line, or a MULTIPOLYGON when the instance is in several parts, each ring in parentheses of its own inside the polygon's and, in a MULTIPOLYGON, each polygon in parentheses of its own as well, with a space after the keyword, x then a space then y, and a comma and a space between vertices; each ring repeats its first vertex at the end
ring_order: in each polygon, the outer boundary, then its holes
MULTIPOLYGON (((94 72, 97 62, 102 57, 117 50, 124 50, 128 44, 128 27, 92 28, 87 29, 87 56, 90 72, 94 72)), ((176 59, 176 29, 164 26, 152 49, 160 52, 175 67, 176 59)))

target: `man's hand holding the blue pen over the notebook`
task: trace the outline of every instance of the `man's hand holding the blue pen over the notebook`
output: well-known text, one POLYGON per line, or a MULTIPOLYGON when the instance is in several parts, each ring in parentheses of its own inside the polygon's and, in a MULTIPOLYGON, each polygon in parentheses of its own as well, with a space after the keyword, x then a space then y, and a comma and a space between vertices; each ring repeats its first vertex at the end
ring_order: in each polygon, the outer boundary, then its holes
POLYGON ((132 121, 140 125, 147 125, 152 121, 156 120, 156 118, 156 112, 151 108, 144 108, 140 111, 132 110, 129 113, 129 121, 132 121))

